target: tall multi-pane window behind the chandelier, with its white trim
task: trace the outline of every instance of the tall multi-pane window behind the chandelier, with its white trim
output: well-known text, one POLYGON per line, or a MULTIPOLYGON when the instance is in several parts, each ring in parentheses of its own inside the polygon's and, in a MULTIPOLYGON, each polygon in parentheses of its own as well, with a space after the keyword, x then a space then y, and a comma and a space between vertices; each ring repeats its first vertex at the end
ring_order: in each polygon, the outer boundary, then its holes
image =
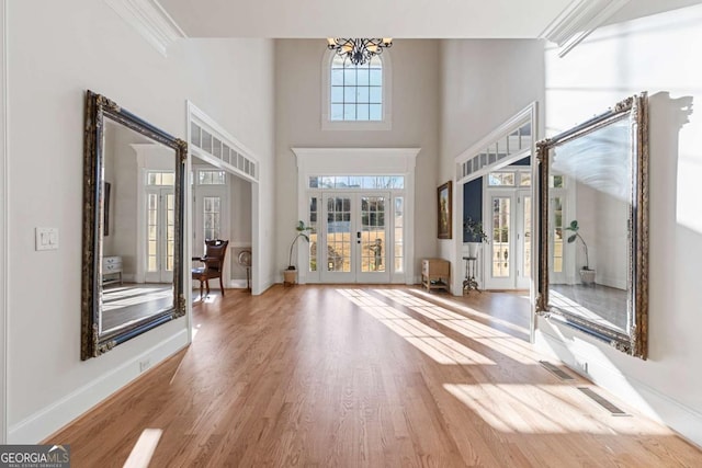
POLYGON ((389 129, 387 52, 363 65, 328 52, 322 69, 324 129, 389 129))

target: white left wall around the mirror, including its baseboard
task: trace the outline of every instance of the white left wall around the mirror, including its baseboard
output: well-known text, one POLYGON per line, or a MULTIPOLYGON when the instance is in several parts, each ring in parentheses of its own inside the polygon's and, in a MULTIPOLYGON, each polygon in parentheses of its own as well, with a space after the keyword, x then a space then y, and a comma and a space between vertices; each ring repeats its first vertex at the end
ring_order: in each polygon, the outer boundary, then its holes
MULTIPOLYGON (((186 343, 180 319, 80 361, 84 90, 179 137, 192 100, 256 152, 271 187, 273 43, 188 41, 165 58, 105 2, 8 2, 8 16, 9 441, 35 443, 136 377, 139 358, 186 343), (59 229, 58 250, 34 251, 36 226, 59 229)), ((272 195, 261 203, 273 210, 272 195)))

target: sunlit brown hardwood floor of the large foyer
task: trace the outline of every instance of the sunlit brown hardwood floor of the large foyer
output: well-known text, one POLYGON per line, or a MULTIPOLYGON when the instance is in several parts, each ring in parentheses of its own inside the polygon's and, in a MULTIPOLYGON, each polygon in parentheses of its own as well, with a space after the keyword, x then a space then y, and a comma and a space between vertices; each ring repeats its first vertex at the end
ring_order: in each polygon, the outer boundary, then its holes
MULTIPOLYGON (((443 294, 374 286, 227 290, 193 344, 53 435, 73 467, 699 467, 702 452, 611 416, 520 338, 443 294)), ((593 386, 592 386, 593 387, 593 386)), ((602 389, 593 387, 602 396, 602 389)), ((611 398, 611 397, 610 397, 611 398)))

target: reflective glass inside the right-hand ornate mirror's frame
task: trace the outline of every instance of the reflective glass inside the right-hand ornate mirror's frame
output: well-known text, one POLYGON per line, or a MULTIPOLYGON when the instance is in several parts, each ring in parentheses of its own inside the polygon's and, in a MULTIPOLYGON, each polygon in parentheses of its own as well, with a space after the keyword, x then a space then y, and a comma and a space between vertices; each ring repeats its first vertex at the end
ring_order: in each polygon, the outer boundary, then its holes
POLYGON ((624 117, 548 151, 551 304, 627 329, 631 123, 624 117))

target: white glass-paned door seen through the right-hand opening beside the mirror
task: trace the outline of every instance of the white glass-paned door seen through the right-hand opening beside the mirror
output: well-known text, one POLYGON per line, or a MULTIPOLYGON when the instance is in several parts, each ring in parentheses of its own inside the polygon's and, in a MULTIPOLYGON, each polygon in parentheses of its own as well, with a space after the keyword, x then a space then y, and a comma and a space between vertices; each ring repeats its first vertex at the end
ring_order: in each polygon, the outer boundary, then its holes
POLYGON ((489 190, 486 207, 490 243, 487 249, 486 287, 526 289, 531 278, 531 193, 529 190, 489 190))

